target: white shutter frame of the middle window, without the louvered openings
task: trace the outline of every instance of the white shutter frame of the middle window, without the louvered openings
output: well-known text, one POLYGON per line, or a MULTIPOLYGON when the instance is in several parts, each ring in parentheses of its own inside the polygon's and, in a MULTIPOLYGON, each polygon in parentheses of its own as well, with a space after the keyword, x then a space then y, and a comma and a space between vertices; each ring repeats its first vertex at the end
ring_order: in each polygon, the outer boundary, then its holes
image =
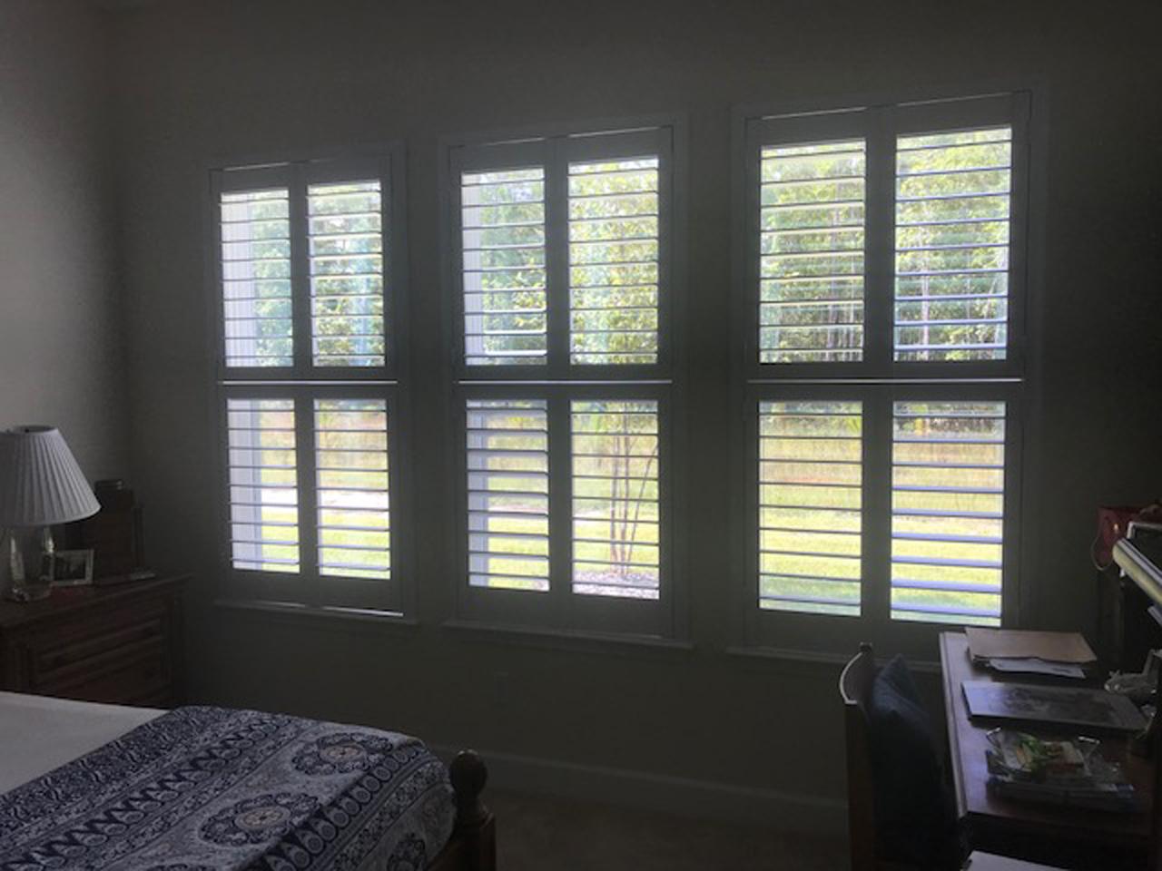
MULTIPOLYGON (((654 115, 587 123, 544 124, 444 137, 439 144, 442 257, 445 300, 445 431, 451 470, 449 581, 453 614, 447 625, 501 632, 588 635, 648 641, 688 636, 687 590, 677 473, 684 454, 684 393, 679 327, 684 311, 687 122, 679 115, 654 115), (619 159, 657 153, 659 158, 658 360, 654 363, 595 365, 569 360, 568 166, 574 161, 619 159), (546 271, 558 282, 555 307, 547 291, 547 354, 544 365, 465 362, 465 309, 460 183, 464 172, 545 167, 546 271), (553 193, 555 190, 555 193, 553 193), (553 197, 557 197, 554 202, 553 197), (555 222, 555 224, 554 224, 555 222), (555 229, 554 229, 555 228, 555 229), (555 233, 555 236, 554 236, 555 233), (559 250, 554 252, 554 242, 559 250), (554 312, 555 308, 555 312, 554 312), (555 315, 555 316, 554 316, 555 315), (465 408, 478 398, 544 398, 548 402, 550 444, 550 590, 536 592, 473 588, 468 583, 467 433, 465 408), (572 399, 657 399, 659 415, 659 597, 573 593, 572 591, 572 399), (554 508, 554 505, 557 508, 554 508)), ((553 279, 550 278, 550 282, 553 279)))

